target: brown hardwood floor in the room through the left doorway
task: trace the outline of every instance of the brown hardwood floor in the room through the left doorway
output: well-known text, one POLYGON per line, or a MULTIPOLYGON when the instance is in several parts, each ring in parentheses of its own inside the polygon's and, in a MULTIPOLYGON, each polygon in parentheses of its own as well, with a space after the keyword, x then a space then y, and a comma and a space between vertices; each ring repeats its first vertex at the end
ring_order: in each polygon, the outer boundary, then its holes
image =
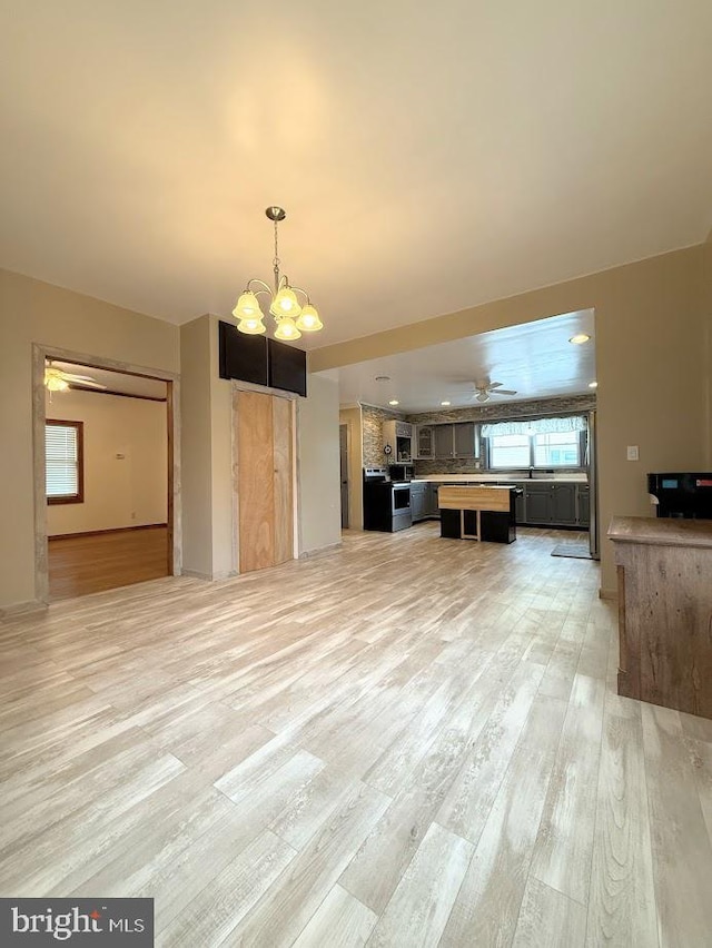
POLYGON ((168 575, 168 530, 165 526, 50 537, 48 547, 52 601, 168 575))

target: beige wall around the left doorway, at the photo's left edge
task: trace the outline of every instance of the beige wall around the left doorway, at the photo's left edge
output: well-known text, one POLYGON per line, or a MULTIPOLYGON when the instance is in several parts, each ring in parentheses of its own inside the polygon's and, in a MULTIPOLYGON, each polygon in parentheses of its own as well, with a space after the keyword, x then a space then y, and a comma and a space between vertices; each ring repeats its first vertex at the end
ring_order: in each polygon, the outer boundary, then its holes
MULTIPOLYGON (((32 343, 179 371, 178 329, 109 303, 0 270, 0 609, 36 601, 32 343)), ((89 361, 87 358, 86 361, 89 361)))

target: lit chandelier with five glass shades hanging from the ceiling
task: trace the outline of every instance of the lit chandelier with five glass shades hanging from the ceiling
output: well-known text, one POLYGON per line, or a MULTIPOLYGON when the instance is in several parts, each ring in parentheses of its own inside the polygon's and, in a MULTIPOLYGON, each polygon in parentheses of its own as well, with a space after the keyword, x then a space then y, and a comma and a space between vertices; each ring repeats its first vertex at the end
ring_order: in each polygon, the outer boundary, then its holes
POLYGON ((281 207, 268 207, 265 211, 267 217, 275 225, 275 259, 273 260, 273 269, 275 273, 274 290, 261 279, 250 279, 240 294, 239 299, 233 310, 233 316, 237 319, 237 328, 240 333, 246 333, 248 336, 258 336, 266 332, 263 319, 265 315, 259 306, 257 294, 266 293, 269 296, 269 312, 277 324, 275 333, 276 339, 285 339, 291 342, 298 339, 301 333, 316 333, 324 327, 319 319, 319 314, 316 307, 312 305, 309 294, 298 286, 291 286, 287 276, 279 275, 279 254, 277 245, 277 225, 287 216, 281 207), (259 289, 253 289, 253 287, 259 289), (297 293, 301 294, 306 299, 304 305, 299 304, 297 293))

